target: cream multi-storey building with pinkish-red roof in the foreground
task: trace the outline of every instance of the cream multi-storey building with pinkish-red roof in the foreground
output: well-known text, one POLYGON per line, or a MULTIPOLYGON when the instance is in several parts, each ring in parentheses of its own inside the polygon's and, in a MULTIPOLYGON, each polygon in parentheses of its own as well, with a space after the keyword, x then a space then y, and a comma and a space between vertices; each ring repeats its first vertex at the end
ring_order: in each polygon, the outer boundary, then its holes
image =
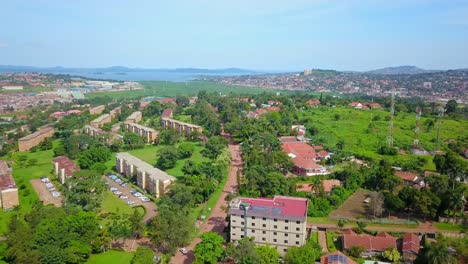
POLYGON ((253 237, 259 245, 272 245, 284 255, 289 247, 307 240, 305 198, 235 198, 230 202, 231 240, 253 237))

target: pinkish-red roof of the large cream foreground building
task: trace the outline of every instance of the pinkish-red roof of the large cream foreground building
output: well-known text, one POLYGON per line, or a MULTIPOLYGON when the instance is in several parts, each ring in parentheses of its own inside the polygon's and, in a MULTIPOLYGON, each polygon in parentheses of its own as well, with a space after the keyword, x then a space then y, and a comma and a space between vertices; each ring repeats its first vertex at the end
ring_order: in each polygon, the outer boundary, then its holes
POLYGON ((307 215, 307 199, 287 196, 275 196, 274 198, 240 198, 243 203, 249 203, 251 208, 255 206, 278 208, 284 216, 307 215))

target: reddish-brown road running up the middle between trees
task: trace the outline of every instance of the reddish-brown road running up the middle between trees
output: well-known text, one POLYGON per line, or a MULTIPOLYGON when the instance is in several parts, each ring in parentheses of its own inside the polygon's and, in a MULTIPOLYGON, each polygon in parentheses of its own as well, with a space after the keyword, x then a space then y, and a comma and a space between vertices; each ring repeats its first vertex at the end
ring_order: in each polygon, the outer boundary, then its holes
MULTIPOLYGON (((242 171, 242 158, 240 146, 238 144, 229 144, 229 151, 231 152, 231 168, 229 171, 228 180, 226 185, 224 185, 223 192, 219 196, 216 205, 211 210, 211 215, 208 220, 201 225, 199 234, 203 234, 209 231, 216 232, 221 236, 225 236, 223 233, 224 228, 227 226, 227 223, 224 221, 227 216, 225 211, 228 208, 228 203, 225 201, 226 196, 233 190, 238 190, 237 186, 237 172, 242 171)), ((194 261, 193 249, 195 245, 200 243, 200 238, 195 238, 192 243, 185 247, 188 250, 187 255, 183 255, 180 251, 177 251, 176 255, 172 258, 170 263, 174 264, 188 264, 194 261)))

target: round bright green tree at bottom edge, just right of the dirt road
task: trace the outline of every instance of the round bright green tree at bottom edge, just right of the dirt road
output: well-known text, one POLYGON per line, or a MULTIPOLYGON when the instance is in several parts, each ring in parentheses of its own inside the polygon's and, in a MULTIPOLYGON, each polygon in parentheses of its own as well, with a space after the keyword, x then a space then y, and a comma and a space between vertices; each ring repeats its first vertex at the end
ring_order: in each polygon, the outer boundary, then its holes
POLYGON ((224 252, 224 238, 215 232, 204 233, 200 238, 202 241, 195 246, 194 263, 217 263, 224 252))

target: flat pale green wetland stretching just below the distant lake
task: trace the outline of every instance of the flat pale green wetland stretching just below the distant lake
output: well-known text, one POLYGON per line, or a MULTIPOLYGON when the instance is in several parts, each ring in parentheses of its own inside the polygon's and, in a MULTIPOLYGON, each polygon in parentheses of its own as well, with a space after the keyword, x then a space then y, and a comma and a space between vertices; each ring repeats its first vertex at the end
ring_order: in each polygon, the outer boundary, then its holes
POLYGON ((189 82, 167 82, 167 81, 146 81, 140 82, 144 89, 122 92, 98 92, 88 93, 86 98, 95 98, 109 96, 112 99, 138 98, 144 96, 195 96, 199 91, 209 93, 237 93, 237 94, 258 94, 262 92, 274 92, 259 87, 228 85, 207 81, 189 81, 189 82))

